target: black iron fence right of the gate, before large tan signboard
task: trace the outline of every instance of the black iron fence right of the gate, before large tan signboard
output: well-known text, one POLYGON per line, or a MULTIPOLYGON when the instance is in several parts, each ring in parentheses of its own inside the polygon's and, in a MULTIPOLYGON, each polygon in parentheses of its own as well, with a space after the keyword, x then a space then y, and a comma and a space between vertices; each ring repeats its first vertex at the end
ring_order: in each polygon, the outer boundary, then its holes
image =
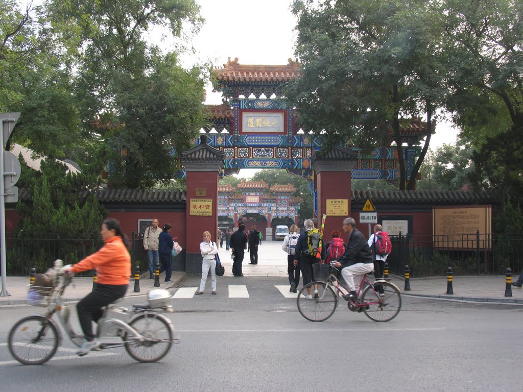
POLYGON ((389 270, 403 275, 405 265, 411 277, 443 276, 452 267, 454 275, 504 274, 521 271, 523 241, 507 234, 399 235, 391 236, 389 270))

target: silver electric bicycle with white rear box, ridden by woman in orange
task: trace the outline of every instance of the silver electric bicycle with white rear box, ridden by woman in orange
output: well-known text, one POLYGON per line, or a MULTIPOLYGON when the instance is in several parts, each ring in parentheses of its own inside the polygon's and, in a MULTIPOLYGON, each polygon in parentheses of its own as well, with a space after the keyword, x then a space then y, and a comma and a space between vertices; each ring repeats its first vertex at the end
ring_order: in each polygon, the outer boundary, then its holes
MULTIPOLYGON (((64 304, 62 299, 73 280, 72 274, 62 274, 61 268, 56 267, 58 261, 48 271, 52 279, 50 287, 29 286, 28 303, 46 307, 46 311, 20 319, 9 331, 9 351, 24 365, 46 363, 58 350, 62 337, 53 316, 58 318, 62 329, 77 347, 84 339, 73 331, 70 305, 64 304)), ((59 264, 62 265, 61 261, 59 264)), ((164 358, 171 345, 179 343, 179 338, 173 337, 172 321, 161 313, 173 312, 170 297, 166 290, 155 289, 147 294, 147 304, 125 308, 113 303, 105 307, 103 317, 98 320, 99 349, 125 347, 139 362, 156 362, 164 358)))

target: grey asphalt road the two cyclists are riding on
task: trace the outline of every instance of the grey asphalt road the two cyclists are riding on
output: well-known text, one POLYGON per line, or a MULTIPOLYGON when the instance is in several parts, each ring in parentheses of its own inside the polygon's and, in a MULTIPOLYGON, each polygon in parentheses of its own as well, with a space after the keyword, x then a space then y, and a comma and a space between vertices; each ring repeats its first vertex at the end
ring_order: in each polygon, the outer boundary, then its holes
POLYGON ((188 276, 173 290, 168 317, 181 342, 153 364, 135 362, 124 349, 78 358, 64 339, 47 364, 20 365, 7 350, 7 333, 40 308, 0 308, 1 390, 521 390, 523 307, 404 296, 390 322, 373 322, 344 303, 330 319, 310 322, 283 276, 224 277, 217 295, 208 288, 176 296, 195 291, 199 280, 188 276))

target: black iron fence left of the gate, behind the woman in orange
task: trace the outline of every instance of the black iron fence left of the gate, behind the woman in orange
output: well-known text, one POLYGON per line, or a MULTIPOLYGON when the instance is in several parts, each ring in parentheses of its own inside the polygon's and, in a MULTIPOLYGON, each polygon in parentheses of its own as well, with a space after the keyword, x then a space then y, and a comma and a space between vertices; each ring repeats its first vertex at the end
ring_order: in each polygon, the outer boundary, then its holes
MULTIPOLYGON (((135 234, 129 238, 132 271, 135 266, 144 272, 147 268, 147 257, 143 250, 143 234, 135 234)), ((96 252, 104 245, 99 233, 96 234, 58 234, 58 233, 6 233, 6 270, 8 275, 29 274, 34 267, 37 273, 45 272, 53 266, 56 259, 64 264, 74 264, 96 252)), ((84 276, 91 271, 82 273, 84 276)))

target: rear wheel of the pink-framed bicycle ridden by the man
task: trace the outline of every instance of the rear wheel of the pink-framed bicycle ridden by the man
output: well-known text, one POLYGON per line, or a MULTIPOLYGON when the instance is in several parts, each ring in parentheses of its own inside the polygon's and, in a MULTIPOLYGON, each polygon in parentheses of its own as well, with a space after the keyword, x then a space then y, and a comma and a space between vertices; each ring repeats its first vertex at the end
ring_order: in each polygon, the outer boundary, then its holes
POLYGON ((365 315, 373 321, 390 321, 400 313, 401 293, 400 290, 389 282, 374 283, 374 288, 368 286, 363 292, 361 302, 365 315), (383 295, 379 296, 379 286, 383 287, 383 295))

